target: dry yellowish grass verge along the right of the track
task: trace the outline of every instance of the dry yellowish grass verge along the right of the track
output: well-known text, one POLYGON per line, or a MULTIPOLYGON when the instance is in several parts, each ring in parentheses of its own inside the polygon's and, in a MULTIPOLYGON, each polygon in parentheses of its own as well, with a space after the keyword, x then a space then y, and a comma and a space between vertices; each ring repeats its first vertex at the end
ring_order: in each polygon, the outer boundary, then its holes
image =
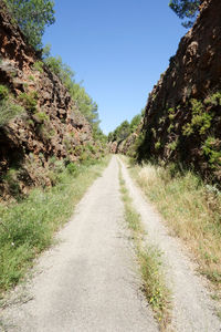
POLYGON ((147 197, 169 229, 193 252, 199 271, 221 290, 221 194, 191 172, 176 173, 151 164, 131 167, 147 197))

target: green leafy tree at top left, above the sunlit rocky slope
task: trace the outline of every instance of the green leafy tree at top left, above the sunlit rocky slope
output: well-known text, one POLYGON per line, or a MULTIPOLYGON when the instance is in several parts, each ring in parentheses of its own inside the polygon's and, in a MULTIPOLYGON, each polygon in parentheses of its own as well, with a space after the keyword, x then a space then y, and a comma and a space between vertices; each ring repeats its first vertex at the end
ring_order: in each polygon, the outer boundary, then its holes
POLYGON ((53 24, 54 1, 51 0, 4 0, 9 12, 35 49, 42 48, 45 27, 53 24))

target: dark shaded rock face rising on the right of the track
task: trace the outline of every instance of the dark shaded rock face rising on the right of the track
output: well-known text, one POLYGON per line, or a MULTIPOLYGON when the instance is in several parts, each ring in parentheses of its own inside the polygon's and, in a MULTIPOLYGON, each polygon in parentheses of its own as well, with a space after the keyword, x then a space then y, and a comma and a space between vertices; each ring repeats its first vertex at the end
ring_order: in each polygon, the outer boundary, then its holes
POLYGON ((149 95, 139 159, 179 160, 221 179, 221 1, 207 0, 149 95))

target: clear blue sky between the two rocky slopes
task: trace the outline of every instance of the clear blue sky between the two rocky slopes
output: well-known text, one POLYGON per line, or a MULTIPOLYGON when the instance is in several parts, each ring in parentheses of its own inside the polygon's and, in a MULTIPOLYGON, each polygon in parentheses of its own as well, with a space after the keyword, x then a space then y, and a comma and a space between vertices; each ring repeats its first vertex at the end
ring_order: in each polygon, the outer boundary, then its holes
POLYGON ((105 134, 130 121, 187 32, 169 0, 55 0, 43 42, 84 81, 105 134))

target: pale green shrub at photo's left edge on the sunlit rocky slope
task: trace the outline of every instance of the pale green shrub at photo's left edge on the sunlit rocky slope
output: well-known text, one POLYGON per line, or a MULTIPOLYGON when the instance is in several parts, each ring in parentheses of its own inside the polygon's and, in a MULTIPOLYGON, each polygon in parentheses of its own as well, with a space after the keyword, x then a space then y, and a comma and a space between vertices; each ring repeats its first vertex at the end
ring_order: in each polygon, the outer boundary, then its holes
POLYGON ((15 105, 10 101, 0 101, 0 127, 7 125, 10 120, 24 113, 24 108, 20 105, 15 105))

